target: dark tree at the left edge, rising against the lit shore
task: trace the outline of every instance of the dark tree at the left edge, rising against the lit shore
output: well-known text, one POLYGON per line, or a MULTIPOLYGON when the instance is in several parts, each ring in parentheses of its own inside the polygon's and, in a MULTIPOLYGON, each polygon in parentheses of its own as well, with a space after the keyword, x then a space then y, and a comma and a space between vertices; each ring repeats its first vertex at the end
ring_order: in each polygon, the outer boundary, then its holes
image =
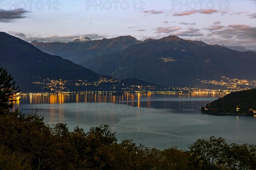
POLYGON ((0 114, 9 112, 12 109, 12 101, 15 100, 15 94, 20 92, 19 87, 15 87, 13 77, 8 75, 6 69, 0 68, 0 114))

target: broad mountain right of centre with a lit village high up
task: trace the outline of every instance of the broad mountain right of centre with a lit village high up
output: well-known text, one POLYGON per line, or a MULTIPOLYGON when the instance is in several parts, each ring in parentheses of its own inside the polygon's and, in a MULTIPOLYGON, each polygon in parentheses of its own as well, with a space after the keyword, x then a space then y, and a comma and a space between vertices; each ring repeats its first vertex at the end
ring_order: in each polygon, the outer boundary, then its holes
POLYGON ((108 70, 106 75, 119 79, 139 78, 166 86, 224 89, 223 76, 255 80, 256 52, 238 52, 170 35, 159 40, 147 39, 122 52, 90 59, 82 66, 96 72, 108 70), (204 80, 212 83, 206 84, 204 80))

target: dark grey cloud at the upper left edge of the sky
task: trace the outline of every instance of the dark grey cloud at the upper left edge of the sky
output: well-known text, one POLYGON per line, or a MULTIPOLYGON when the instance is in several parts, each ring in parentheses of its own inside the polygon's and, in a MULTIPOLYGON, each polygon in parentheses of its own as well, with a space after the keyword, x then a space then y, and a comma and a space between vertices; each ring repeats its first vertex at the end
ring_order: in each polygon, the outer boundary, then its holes
POLYGON ((4 10, 0 9, 0 22, 10 23, 16 19, 26 18, 24 16, 29 11, 24 9, 4 10))

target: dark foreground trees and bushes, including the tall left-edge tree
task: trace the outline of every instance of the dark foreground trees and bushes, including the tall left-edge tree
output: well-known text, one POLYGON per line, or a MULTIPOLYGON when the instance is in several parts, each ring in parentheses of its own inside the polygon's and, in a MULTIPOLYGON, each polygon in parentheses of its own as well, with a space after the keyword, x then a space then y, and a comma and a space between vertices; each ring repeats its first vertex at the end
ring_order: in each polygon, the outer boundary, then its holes
POLYGON ((117 143, 108 125, 89 132, 46 124, 36 113, 12 110, 18 91, 0 69, 0 170, 255 170, 256 145, 198 138, 189 151, 117 143))

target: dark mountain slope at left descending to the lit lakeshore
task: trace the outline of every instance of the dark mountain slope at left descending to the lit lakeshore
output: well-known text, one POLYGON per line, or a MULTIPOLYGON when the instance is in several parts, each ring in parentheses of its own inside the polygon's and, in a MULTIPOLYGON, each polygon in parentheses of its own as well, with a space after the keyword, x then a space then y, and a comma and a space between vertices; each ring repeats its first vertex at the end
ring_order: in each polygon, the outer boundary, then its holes
POLYGON ((0 67, 11 74, 22 92, 106 90, 118 82, 32 44, 0 32, 0 67))

